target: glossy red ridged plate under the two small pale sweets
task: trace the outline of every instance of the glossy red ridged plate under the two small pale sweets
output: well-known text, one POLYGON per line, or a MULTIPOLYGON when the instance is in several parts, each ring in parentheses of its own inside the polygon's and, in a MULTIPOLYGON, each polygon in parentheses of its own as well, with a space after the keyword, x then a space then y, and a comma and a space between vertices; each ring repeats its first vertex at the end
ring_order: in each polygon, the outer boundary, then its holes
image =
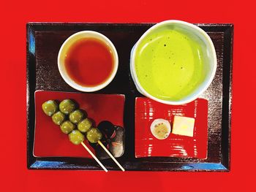
POLYGON ((135 107, 135 156, 206 158, 207 114, 206 99, 197 99, 184 105, 167 105, 138 97, 135 107), (151 134, 153 120, 168 120, 172 127, 174 115, 195 118, 194 137, 170 133, 167 139, 159 140, 151 134))

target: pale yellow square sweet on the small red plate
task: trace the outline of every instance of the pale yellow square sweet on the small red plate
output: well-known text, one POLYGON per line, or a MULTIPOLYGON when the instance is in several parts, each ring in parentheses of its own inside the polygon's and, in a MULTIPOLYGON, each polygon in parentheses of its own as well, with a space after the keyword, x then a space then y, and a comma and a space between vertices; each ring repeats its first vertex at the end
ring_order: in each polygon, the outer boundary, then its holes
POLYGON ((172 133, 193 137, 194 126, 195 126, 195 118, 174 116, 172 133))

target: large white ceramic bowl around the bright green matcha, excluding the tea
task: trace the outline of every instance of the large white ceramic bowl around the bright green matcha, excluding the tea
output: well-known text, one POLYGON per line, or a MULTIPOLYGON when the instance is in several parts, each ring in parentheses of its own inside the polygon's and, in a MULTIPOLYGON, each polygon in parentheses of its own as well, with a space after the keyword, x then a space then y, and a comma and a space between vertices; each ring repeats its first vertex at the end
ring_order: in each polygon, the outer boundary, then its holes
POLYGON ((205 31, 203 31, 203 29, 191 24, 191 23, 187 23, 181 20, 165 20, 161 23, 157 23, 156 25, 152 26, 151 28, 148 29, 148 31, 146 31, 138 40, 138 42, 135 44, 134 47, 132 47, 132 51, 131 51, 131 57, 130 57, 130 71, 131 71, 131 75, 132 75, 132 80, 135 82, 136 88, 138 89, 138 91, 140 93, 142 93, 144 96, 147 96, 150 99, 153 99, 155 101, 159 101, 163 104, 173 104, 173 105, 177 105, 177 104, 187 104, 190 101, 193 101, 195 99, 197 99, 198 96, 200 96, 201 93, 203 93, 203 91, 206 91, 206 89, 208 88, 208 86, 211 84, 212 80, 214 79, 214 75, 216 73, 217 70, 217 55, 215 52, 215 48, 214 48, 214 44, 211 41, 211 38, 208 36, 208 34, 206 34, 205 31), (138 80, 138 76, 136 74, 135 71, 135 54, 136 51, 138 49, 138 45, 140 45, 140 42, 142 42, 142 40, 147 37, 148 34, 151 33, 151 31, 154 31, 157 28, 162 28, 162 27, 166 27, 166 26, 175 26, 178 28, 182 28, 183 30, 186 30, 187 32, 189 32, 190 34, 193 34, 195 36, 197 36, 198 38, 201 39, 201 41, 203 42, 204 45, 202 45, 204 48, 204 53, 206 53, 204 56, 206 57, 206 61, 204 64, 208 65, 206 68, 208 69, 206 72, 206 78, 203 80, 202 83, 200 83, 200 85, 196 88, 196 90, 194 90, 191 94, 187 95, 186 97, 184 97, 183 99, 180 100, 162 100, 162 99, 158 99, 157 97, 152 96, 151 94, 149 94, 141 85, 140 82, 138 80))

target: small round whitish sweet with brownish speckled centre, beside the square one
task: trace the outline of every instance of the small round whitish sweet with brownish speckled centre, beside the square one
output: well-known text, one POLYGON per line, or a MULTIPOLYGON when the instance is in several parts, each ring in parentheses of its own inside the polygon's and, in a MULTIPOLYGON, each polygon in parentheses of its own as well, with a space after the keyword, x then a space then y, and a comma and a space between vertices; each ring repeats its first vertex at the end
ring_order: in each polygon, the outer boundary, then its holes
POLYGON ((155 119, 151 123, 150 130, 157 139, 166 139, 170 134, 170 123, 165 119, 155 119))

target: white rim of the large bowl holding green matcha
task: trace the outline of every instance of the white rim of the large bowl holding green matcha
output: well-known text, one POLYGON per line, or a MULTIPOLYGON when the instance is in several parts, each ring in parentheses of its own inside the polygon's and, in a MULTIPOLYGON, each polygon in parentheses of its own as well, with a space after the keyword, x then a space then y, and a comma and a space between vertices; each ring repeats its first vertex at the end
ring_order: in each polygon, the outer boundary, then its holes
POLYGON ((138 42, 135 43, 134 47, 132 47, 131 50, 131 58, 130 58, 130 71, 132 74, 132 79, 135 82, 135 86, 138 89, 138 91, 140 93, 142 93, 143 95, 147 96, 150 99, 153 99, 154 101, 159 101, 160 103, 163 104, 172 104, 172 105, 178 105, 178 104, 187 104, 191 101, 194 101, 195 99, 198 98, 198 96, 200 96, 204 91, 206 91, 206 89, 208 88, 209 85, 211 85, 211 82, 214 80, 214 76, 216 74, 217 71, 217 55, 216 55, 216 51, 215 51, 215 47, 214 47, 214 43, 211 41, 211 37, 208 36, 208 34, 206 34, 206 31, 203 31, 202 28, 199 28, 198 26, 195 26, 192 23, 187 23, 185 21, 182 20, 165 20, 162 21, 160 23, 155 24, 154 26, 151 26, 151 28, 148 28, 148 30, 140 37, 140 39, 138 39, 138 42), (136 74, 135 71, 135 53, 136 50, 138 49, 138 45, 140 45, 140 42, 149 34, 151 33, 151 31, 153 31, 155 28, 158 28, 159 26, 163 26, 166 24, 181 24, 184 26, 189 26, 190 28, 193 28, 194 30, 197 30, 200 32, 200 34, 206 39, 206 41, 208 42, 208 45, 210 45, 210 49, 212 51, 212 55, 213 55, 213 70, 211 72, 211 76, 208 78, 208 80, 206 80, 206 84, 203 86, 203 88, 200 89, 200 91, 196 91, 196 93, 194 95, 192 95, 191 97, 189 97, 189 99, 181 99, 179 101, 168 101, 168 100, 163 100, 163 99, 159 99, 155 96, 152 96, 151 94, 149 94, 141 85, 140 82, 138 80, 138 76, 136 74))

